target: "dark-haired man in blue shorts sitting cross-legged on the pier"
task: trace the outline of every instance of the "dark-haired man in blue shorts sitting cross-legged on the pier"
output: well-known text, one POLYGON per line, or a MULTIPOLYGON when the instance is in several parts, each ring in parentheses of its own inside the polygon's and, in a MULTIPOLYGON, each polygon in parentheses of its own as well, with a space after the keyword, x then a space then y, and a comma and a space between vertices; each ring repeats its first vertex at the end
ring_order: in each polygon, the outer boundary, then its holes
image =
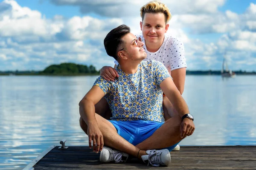
POLYGON ((111 30, 104 45, 107 54, 119 62, 119 78, 112 82, 99 77, 79 102, 80 126, 89 137, 89 147, 93 141, 93 151, 101 151, 102 162, 125 162, 131 155, 154 166, 168 166, 169 151, 195 130, 185 100, 162 63, 142 61, 146 58, 144 44, 128 26, 111 30), (179 113, 166 122, 163 92, 179 113), (103 96, 110 106, 111 120, 95 113, 103 96))

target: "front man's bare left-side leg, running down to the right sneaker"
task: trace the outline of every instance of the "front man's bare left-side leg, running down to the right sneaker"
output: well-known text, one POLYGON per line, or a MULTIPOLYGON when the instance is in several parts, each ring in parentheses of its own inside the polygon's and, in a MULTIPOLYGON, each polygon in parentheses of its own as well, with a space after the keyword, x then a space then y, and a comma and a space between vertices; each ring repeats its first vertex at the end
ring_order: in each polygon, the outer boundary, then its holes
MULTIPOLYGON (((122 136, 117 133, 116 128, 107 119, 104 119, 97 113, 95 113, 95 117, 103 135, 104 145, 137 157, 140 150, 138 147, 135 147, 133 144, 122 138, 122 136)), ((87 125, 81 117, 80 126, 87 134, 87 125)), ((143 155, 147 155, 146 151, 140 150, 138 158, 141 159, 141 156, 143 155)))

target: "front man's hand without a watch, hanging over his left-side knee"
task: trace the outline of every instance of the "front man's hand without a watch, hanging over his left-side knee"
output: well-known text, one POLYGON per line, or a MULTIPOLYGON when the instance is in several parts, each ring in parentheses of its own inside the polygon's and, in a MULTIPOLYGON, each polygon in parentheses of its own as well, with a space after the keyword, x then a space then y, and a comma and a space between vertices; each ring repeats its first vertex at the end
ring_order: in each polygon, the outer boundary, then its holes
POLYGON ((89 137, 89 147, 92 148, 91 142, 93 141, 93 152, 98 153, 103 149, 103 135, 102 132, 99 130, 99 126, 97 123, 94 125, 88 125, 87 135, 89 137))

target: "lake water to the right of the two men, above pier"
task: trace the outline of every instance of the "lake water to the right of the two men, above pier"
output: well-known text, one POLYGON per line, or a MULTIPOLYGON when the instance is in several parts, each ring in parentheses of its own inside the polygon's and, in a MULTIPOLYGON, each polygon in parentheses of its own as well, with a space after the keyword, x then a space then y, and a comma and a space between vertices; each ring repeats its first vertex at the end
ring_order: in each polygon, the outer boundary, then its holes
POLYGON ((256 137, 250 135, 256 128, 255 85, 254 76, 187 76, 183 97, 196 131, 180 144, 255 145, 256 137))

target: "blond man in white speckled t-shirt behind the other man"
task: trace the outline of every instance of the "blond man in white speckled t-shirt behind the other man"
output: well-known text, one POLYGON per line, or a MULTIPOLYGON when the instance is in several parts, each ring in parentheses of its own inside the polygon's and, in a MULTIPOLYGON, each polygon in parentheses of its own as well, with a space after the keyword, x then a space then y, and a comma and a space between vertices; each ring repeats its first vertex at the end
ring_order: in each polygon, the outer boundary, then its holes
MULTIPOLYGON (((182 95, 187 65, 183 42, 167 33, 169 29, 168 22, 172 18, 169 8, 164 3, 153 0, 140 8, 140 16, 141 32, 135 34, 135 36, 144 43, 143 48, 147 53, 147 58, 143 61, 154 59, 162 62, 182 95)), ((118 65, 118 62, 115 60, 114 68, 116 68, 116 65, 118 65)), ((100 70, 100 75, 104 79, 114 81, 118 77, 118 73, 114 68, 104 66, 100 70)), ((104 98, 96 105, 96 113, 105 119, 110 118, 111 111, 109 110, 108 102, 104 98)), ((178 114, 165 95, 163 95, 163 113, 165 120, 178 114)), ((180 150, 179 145, 173 150, 180 150)))

